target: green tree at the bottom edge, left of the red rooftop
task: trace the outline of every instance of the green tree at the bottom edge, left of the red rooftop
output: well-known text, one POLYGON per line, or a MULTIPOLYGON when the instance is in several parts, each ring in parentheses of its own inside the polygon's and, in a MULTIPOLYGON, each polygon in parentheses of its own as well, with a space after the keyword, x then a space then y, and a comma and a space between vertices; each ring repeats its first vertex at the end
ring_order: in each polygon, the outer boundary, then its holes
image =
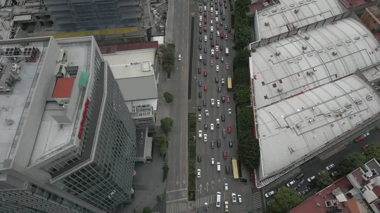
POLYGON ((298 206, 303 201, 303 196, 287 187, 280 188, 269 201, 269 212, 284 213, 298 206))

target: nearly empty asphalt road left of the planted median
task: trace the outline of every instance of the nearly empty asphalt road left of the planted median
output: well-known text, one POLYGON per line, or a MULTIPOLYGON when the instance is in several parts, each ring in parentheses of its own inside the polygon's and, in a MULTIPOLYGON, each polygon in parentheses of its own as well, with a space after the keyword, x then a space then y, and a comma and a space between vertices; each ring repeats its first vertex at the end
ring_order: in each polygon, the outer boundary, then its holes
MULTIPOLYGON (((168 149, 168 185, 166 186, 167 208, 173 212, 185 211, 183 202, 187 202, 187 82, 189 68, 190 18, 189 3, 186 0, 170 2, 169 9, 174 9, 173 38, 176 45, 175 71, 171 81, 175 82, 167 89, 174 100, 170 104, 170 117, 174 125, 169 133, 168 149), (177 60, 181 55, 181 61, 177 60), (176 207, 176 208, 174 208, 176 207)), ((168 212, 169 213, 169 212, 168 212)))

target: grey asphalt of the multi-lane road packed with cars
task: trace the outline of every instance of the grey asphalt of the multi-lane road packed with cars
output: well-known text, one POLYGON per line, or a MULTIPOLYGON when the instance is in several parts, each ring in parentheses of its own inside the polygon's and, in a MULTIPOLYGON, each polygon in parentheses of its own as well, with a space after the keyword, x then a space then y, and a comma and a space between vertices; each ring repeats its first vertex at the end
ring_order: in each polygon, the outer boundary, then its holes
MULTIPOLYGON (((219 1, 219 0, 218 0, 219 1)), ((252 208, 252 192, 249 183, 240 184, 239 180, 234 180, 232 175, 232 164, 231 157, 237 157, 236 153, 236 125, 235 125, 235 111, 234 111, 234 100, 233 100, 233 90, 227 90, 227 76, 233 76, 232 74, 232 59, 233 50, 231 49, 231 33, 228 33, 224 29, 225 23, 230 28, 230 5, 225 9, 224 6, 219 7, 219 14, 215 16, 215 5, 214 18, 211 19, 211 1, 207 2, 207 23, 204 23, 204 6, 201 5, 202 11, 199 12, 199 6, 193 2, 190 4, 190 8, 197 13, 195 14, 195 26, 194 26, 194 46, 193 46, 193 84, 196 88, 193 90, 192 99, 196 100, 194 103, 194 108, 201 105, 201 111, 196 110, 197 115, 201 114, 202 121, 197 119, 197 155, 201 155, 201 162, 196 163, 196 169, 201 169, 201 178, 197 178, 196 186, 196 208, 203 210, 204 203, 209 204, 210 212, 220 212, 225 211, 224 202, 228 201, 229 211, 245 211, 252 208), (225 15, 225 20, 222 20, 222 14, 220 10, 223 10, 223 15, 225 15), (199 22, 199 16, 202 16, 202 21, 199 22), (217 30, 217 24, 215 22, 216 17, 219 18, 220 29, 217 30), (211 25, 210 20, 213 20, 213 25, 211 25), (201 27, 199 27, 201 23, 201 27), (204 26, 206 26, 206 32, 204 31, 204 26), (211 26, 214 27, 214 32, 211 32, 211 26), (199 34, 199 29, 202 30, 202 34, 199 34), (228 35, 228 40, 220 38, 217 36, 217 31, 220 33, 226 33, 228 35), (210 39, 210 34, 213 34, 213 39, 210 39), (201 36, 202 41, 199 42, 199 36, 201 36), (204 41, 204 36, 207 36, 207 41, 204 41), (216 46, 216 40, 219 41, 219 58, 216 56, 211 56, 211 50, 215 50, 216 47, 211 47, 211 41, 214 42, 216 46), (202 48, 199 50, 199 44, 202 44, 202 48), (220 46, 223 45, 223 50, 220 50, 220 46), (205 53, 204 48, 207 48, 205 53), (225 49, 228 47, 230 55, 225 55, 225 49), (202 55, 202 60, 199 60, 199 55, 202 55), (221 58, 224 58, 224 63, 221 62, 221 58), (206 59, 206 66, 203 64, 203 59, 206 59), (211 66, 211 60, 214 61, 214 65, 211 66), (226 63, 229 64, 230 69, 226 69, 226 63), (216 71, 216 66, 219 66, 219 71, 216 71), (198 74, 198 68, 201 68, 201 74, 198 74), (204 70, 207 70, 207 77, 204 76, 204 70), (218 83, 215 82, 215 77, 218 77, 218 83), (225 79, 225 85, 222 85, 222 78, 225 79), (202 81, 202 85, 199 86, 199 80, 202 81), (207 91, 204 91, 204 85, 207 85, 207 91), (218 92, 218 86, 222 86, 222 92, 218 92), (199 92, 201 92, 202 97, 199 98, 199 92), (222 102, 222 95, 225 95, 226 101, 222 102), (230 102, 227 102, 227 96, 230 96, 230 102), (215 106, 211 106, 211 99, 215 100, 215 106), (203 106, 203 100, 206 100, 206 106, 203 106), (220 100, 220 107, 217 107, 217 100, 220 100), (228 115, 228 109, 232 110, 232 115, 228 115), (209 116, 206 117, 205 110, 209 111, 209 116), (222 114, 225 114, 225 121, 222 121, 222 114), (216 127, 216 119, 220 119, 220 128, 216 127), (204 124, 207 123, 208 128, 205 130, 204 124), (210 125, 214 124, 214 131, 211 131, 210 125), (227 125, 231 125, 231 133, 226 132, 226 138, 223 138, 222 130, 228 130, 227 125), (202 138, 198 137, 198 131, 202 130, 202 138), (207 142, 204 142, 203 135, 207 134, 207 142), (221 140, 221 146, 217 147, 217 139, 221 140), (233 147, 229 147, 228 141, 233 141, 233 147), (214 149, 211 148, 211 141, 214 141, 214 149), (227 152, 227 158, 223 159, 223 150, 227 152), (215 159, 215 164, 211 165, 211 158, 215 159), (217 163, 221 164, 221 171, 217 172, 217 163), (226 166, 230 168, 230 174, 226 174, 226 166), (228 191, 224 190, 224 184, 228 183, 228 191), (221 195, 221 207, 216 208, 216 193, 220 192, 221 195), (236 195, 241 194, 242 204, 233 204, 231 199, 231 194, 236 195)), ((215 2, 214 2, 215 4, 215 2)))

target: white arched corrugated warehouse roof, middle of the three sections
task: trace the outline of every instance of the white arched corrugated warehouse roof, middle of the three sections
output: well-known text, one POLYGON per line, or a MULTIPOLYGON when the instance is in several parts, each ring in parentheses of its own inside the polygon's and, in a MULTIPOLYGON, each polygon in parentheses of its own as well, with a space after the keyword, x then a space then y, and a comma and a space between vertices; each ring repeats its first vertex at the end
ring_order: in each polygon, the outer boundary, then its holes
POLYGON ((255 104, 265 107, 380 63, 377 46, 364 25, 346 18, 258 47, 250 57, 255 104))

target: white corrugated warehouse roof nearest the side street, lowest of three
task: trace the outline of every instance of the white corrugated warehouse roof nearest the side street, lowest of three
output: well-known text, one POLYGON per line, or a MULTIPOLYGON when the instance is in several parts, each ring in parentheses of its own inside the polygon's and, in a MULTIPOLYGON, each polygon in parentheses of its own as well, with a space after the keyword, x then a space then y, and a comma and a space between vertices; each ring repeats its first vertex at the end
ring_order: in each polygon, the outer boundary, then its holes
POLYGON ((379 112, 380 97, 356 75, 256 110, 260 179, 279 173, 379 112))

